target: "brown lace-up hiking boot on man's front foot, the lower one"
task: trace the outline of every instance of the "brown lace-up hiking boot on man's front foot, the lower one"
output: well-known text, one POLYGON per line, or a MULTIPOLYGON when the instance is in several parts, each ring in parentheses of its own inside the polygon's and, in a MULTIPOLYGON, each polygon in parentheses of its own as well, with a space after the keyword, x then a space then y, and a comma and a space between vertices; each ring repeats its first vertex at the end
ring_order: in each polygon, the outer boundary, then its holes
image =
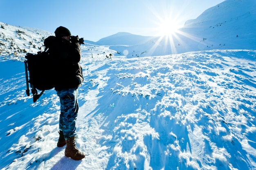
POLYGON ((67 146, 65 149, 65 156, 70 157, 76 161, 81 160, 85 157, 84 153, 76 148, 75 137, 71 137, 66 140, 67 146))

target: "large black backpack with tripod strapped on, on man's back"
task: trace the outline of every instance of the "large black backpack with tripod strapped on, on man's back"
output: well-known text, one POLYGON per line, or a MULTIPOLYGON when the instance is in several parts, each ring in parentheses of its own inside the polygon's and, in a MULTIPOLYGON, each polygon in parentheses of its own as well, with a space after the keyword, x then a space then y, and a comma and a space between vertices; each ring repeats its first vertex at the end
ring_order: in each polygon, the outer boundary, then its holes
MULTIPOLYGON (((53 37, 53 36, 50 36, 53 37)), ((54 88, 55 64, 52 56, 46 51, 38 51, 37 54, 27 53, 25 58, 25 74, 27 84, 27 96, 29 96, 29 84, 33 95, 33 102, 36 102, 45 90, 54 88), (28 74, 29 73, 29 74, 28 74), (38 91, 41 91, 38 94, 38 91)))

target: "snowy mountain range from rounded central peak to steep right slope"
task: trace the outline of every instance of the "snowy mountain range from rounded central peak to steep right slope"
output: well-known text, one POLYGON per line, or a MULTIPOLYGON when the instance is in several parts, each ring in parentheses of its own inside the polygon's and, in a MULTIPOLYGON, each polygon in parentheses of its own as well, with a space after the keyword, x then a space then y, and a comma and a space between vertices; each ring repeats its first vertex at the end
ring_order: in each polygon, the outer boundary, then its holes
POLYGON ((226 0, 189 20, 171 37, 136 37, 120 33, 103 38, 101 44, 124 52, 128 57, 143 57, 213 49, 255 49, 256 1, 226 0), (243 8, 241 8, 243 7, 243 8), (118 38, 118 41, 113 41, 118 38), (128 42, 126 42, 126 40, 128 42))

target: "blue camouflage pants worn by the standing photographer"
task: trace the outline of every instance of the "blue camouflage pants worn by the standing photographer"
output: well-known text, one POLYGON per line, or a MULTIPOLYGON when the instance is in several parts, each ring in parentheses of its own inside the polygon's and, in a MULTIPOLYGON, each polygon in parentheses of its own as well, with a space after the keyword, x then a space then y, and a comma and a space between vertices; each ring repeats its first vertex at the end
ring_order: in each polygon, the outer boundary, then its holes
POLYGON ((56 91, 61 102, 59 130, 63 131, 65 139, 76 135, 76 117, 78 113, 78 89, 56 91))

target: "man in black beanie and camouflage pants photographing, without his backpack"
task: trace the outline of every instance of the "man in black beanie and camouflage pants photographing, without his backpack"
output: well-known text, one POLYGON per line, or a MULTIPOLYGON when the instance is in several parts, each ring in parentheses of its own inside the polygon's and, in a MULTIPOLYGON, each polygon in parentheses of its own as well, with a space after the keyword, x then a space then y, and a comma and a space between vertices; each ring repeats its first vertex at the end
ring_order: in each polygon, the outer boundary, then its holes
MULTIPOLYGON (((55 37, 45 39, 45 46, 56 64, 55 90, 61 102, 59 120, 58 147, 65 149, 65 156, 74 160, 85 157, 83 152, 76 148, 76 117, 78 113, 78 87, 83 82, 82 68, 79 64, 81 49, 78 36, 71 36, 70 31, 60 26, 56 29, 55 37)), ((81 39, 80 39, 81 40, 81 39)))

